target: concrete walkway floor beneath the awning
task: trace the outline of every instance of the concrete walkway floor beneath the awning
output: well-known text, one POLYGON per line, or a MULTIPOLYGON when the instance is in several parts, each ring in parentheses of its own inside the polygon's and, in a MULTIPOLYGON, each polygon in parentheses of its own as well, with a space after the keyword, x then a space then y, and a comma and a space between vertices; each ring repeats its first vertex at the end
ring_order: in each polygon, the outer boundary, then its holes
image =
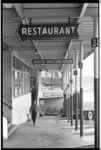
POLYGON ((75 122, 71 126, 68 120, 60 116, 44 116, 37 119, 36 126, 32 121, 21 124, 3 148, 77 148, 94 145, 94 125, 84 122, 84 136, 80 129, 75 131, 75 122))

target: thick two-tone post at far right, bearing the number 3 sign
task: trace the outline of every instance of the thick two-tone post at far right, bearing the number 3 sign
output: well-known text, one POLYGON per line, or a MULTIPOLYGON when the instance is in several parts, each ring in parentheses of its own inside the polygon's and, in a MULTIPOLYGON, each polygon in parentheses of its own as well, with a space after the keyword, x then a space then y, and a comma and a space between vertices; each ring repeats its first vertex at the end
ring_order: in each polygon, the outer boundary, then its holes
MULTIPOLYGON (((94 17, 94 37, 98 38, 98 17, 94 17)), ((100 100, 99 100, 99 77, 98 77, 98 47, 94 51, 94 111, 95 111, 95 148, 100 145, 100 100)))

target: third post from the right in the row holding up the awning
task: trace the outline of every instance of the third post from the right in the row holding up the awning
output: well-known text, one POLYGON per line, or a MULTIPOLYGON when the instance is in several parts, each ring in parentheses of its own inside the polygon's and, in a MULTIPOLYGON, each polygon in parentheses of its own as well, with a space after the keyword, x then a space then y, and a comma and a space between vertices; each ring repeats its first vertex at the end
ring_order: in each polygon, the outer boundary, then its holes
POLYGON ((75 51, 75 102, 76 102, 76 119, 75 119, 75 130, 78 130, 78 51, 75 51))

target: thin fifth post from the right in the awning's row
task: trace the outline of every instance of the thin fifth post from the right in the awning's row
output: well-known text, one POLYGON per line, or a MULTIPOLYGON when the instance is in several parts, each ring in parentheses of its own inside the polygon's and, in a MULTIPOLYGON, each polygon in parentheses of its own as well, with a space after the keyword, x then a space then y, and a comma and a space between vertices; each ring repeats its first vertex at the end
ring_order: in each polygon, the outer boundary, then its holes
POLYGON ((70 65, 68 64, 68 122, 70 122, 70 65))

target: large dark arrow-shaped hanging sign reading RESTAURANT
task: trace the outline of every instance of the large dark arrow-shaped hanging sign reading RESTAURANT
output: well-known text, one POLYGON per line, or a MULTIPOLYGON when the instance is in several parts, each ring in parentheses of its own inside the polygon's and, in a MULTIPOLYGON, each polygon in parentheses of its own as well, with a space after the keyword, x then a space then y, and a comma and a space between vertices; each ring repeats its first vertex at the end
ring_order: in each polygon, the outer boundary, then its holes
POLYGON ((63 38, 79 38, 77 32, 78 23, 67 24, 20 24, 17 34, 22 41, 46 40, 63 38))

